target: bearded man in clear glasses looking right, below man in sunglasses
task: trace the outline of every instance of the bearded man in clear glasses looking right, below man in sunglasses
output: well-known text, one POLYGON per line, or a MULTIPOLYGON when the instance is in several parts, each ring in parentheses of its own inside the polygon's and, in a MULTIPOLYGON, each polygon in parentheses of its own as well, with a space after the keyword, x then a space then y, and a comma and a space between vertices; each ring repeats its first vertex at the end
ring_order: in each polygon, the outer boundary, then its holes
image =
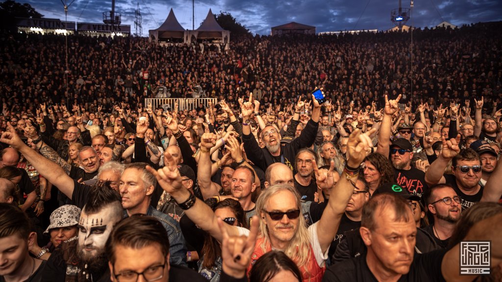
POLYGON ((462 212, 462 199, 449 184, 437 184, 426 193, 425 202, 434 223, 424 229, 438 246, 446 248, 462 212))

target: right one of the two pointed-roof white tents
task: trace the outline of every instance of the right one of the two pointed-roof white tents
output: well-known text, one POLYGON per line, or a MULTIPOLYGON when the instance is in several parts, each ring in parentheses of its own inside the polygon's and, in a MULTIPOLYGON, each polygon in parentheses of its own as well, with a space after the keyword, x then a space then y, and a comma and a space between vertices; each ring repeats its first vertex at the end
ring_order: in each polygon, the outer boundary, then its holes
POLYGON ((190 38, 188 41, 191 43, 194 40, 199 43, 223 44, 226 50, 229 48, 230 32, 218 25, 211 9, 209 9, 207 17, 202 25, 198 29, 190 31, 190 38))

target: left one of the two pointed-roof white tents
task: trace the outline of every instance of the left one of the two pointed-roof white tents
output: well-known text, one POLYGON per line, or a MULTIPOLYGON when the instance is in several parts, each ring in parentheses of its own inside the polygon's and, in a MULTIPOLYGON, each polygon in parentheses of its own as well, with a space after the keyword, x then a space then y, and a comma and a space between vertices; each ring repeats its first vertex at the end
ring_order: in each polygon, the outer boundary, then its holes
POLYGON ((155 30, 149 30, 150 41, 156 43, 184 43, 188 40, 186 31, 176 19, 173 9, 169 12, 166 21, 155 30))

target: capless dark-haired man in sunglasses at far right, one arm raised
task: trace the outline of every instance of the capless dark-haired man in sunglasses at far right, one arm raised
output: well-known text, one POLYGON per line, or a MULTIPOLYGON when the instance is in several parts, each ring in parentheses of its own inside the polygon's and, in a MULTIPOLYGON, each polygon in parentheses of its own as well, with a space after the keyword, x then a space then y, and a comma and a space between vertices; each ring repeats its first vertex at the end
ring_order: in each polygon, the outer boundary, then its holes
POLYGON ((427 170, 425 181, 430 186, 438 183, 450 184, 455 193, 462 198, 462 208, 468 209, 483 196, 484 186, 479 184, 481 161, 474 150, 460 150, 455 139, 443 139, 442 143, 441 154, 427 170), (443 175, 450 160, 453 175, 443 175))

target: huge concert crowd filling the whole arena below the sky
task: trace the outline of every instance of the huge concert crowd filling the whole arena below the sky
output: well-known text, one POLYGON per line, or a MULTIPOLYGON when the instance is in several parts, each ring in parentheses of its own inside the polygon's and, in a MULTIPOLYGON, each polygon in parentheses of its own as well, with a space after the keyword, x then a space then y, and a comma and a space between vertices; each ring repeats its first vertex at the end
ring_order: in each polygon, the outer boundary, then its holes
POLYGON ((0 282, 502 279, 500 26, 3 34, 0 282))

